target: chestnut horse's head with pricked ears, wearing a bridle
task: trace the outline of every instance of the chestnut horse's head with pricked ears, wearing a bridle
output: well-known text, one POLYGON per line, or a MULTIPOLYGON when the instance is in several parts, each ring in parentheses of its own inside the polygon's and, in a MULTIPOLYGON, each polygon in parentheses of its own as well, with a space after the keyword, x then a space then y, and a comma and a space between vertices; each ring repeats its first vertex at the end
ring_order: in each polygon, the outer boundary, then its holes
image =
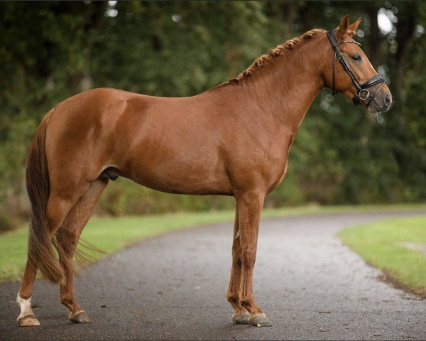
POLYGON ((336 30, 327 32, 330 63, 326 65, 330 67, 326 67, 326 82, 333 94, 340 92, 370 112, 386 112, 391 107, 391 92, 353 38, 360 22, 361 18, 349 24, 346 15, 336 30))

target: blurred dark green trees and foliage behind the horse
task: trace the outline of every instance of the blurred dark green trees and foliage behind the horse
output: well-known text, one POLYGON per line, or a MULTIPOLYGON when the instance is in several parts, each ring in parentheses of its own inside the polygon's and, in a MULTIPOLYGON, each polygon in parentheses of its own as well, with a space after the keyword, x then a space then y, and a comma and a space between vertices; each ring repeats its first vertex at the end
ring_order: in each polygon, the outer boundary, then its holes
MULTIPOLYGON (((290 151, 287 178, 266 205, 426 199, 426 5, 422 1, 50 1, 0 4, 0 210, 28 212, 26 148, 43 114, 90 87, 190 96, 235 77, 259 55, 310 28, 362 16, 359 36, 386 72, 395 105, 374 121, 324 90, 290 151), (394 13, 381 33, 379 10, 394 13), (422 31, 423 30, 423 31, 422 31), (423 33, 422 33, 423 32, 423 33)), ((111 215, 232 207, 223 197, 109 185, 111 215)))

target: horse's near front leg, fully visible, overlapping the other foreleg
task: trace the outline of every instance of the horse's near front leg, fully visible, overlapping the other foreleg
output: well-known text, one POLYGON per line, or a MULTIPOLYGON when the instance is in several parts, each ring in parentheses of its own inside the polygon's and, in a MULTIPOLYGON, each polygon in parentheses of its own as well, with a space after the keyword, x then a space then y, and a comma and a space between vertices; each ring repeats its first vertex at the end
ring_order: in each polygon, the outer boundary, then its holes
POLYGON ((256 261, 258 228, 261 220, 264 193, 246 192, 236 198, 239 212, 239 239, 241 247, 241 279, 239 299, 249 311, 249 323, 257 326, 271 326, 268 318, 253 298, 253 268, 256 261))

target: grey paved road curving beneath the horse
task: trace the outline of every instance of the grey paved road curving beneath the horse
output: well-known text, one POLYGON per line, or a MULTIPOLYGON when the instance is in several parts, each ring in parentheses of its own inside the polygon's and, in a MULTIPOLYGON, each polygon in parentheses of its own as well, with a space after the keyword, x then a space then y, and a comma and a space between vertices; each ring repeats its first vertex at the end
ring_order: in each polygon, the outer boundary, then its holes
POLYGON ((146 239, 90 266, 76 283, 88 325, 70 323, 58 288, 37 281, 33 304, 42 325, 19 328, 18 283, 1 284, 0 339, 425 340, 426 300, 378 281, 380 272, 334 237, 352 224, 396 215, 409 214, 263 220, 254 288, 272 328, 230 322, 227 223, 146 239))

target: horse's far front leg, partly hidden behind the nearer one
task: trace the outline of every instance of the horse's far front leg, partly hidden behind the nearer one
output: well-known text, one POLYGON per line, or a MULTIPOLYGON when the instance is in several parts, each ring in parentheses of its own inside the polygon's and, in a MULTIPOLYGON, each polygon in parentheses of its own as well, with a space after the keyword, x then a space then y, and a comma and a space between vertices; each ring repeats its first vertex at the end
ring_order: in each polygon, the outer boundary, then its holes
POLYGON ((232 320, 235 323, 249 323, 249 312, 244 308, 239 299, 239 286, 241 279, 241 246, 239 241, 239 213, 238 204, 235 208, 235 221, 234 221, 234 240, 232 242, 232 267, 231 278, 229 279, 228 291, 226 292, 226 299, 231 303, 234 308, 234 315, 232 320))

